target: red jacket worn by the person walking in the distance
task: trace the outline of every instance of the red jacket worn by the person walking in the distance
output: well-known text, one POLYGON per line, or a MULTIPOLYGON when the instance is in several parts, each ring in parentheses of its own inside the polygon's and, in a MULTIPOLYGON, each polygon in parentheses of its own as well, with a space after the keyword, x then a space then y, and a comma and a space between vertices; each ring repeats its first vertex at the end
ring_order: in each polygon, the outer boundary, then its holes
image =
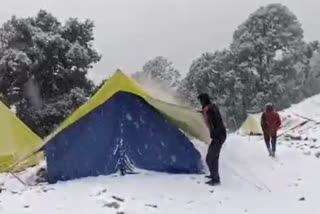
POLYGON ((264 134, 272 137, 277 136, 277 131, 281 126, 281 119, 277 112, 266 111, 261 116, 261 127, 264 134))

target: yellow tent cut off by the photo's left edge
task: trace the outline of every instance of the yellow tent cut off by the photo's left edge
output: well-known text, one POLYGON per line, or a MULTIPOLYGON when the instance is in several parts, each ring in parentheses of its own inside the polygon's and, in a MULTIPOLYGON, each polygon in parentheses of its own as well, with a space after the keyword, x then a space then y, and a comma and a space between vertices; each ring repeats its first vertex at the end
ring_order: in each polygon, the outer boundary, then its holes
MULTIPOLYGON (((33 133, 16 115, 0 101, 0 172, 10 171, 10 167, 19 159, 42 144, 42 140, 33 133)), ((41 154, 24 161, 16 170, 36 165, 41 154)))

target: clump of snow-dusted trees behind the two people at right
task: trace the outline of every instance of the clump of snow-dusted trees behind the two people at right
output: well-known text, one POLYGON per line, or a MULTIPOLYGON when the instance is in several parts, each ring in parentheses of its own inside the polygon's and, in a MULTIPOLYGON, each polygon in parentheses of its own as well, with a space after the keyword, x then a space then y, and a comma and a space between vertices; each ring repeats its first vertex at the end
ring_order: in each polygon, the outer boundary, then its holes
POLYGON ((319 42, 303 40, 297 17, 270 4, 237 28, 230 50, 195 60, 178 91, 193 105, 197 94, 209 93, 225 109, 228 126, 239 127, 246 111, 262 111, 267 102, 283 109, 319 93, 317 53, 319 42))

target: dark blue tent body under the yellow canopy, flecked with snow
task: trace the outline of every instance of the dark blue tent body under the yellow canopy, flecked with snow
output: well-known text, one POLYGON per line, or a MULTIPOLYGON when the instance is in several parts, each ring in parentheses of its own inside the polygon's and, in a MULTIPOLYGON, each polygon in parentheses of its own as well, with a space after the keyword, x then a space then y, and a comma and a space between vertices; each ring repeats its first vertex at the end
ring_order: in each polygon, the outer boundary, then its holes
POLYGON ((44 146, 48 180, 108 175, 135 168, 200 173, 200 153, 143 98, 117 92, 44 146))

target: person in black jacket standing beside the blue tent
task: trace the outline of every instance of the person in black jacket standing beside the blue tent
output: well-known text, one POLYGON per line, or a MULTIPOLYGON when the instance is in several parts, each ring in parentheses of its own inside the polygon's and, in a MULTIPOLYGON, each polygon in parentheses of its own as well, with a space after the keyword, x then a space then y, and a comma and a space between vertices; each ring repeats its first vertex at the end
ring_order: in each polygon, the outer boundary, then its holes
POLYGON ((223 123, 219 108, 212 104, 208 94, 200 94, 198 99, 202 105, 202 114, 210 131, 211 143, 208 148, 206 162, 210 171, 207 184, 220 184, 219 157, 223 143, 227 138, 227 131, 223 123))

